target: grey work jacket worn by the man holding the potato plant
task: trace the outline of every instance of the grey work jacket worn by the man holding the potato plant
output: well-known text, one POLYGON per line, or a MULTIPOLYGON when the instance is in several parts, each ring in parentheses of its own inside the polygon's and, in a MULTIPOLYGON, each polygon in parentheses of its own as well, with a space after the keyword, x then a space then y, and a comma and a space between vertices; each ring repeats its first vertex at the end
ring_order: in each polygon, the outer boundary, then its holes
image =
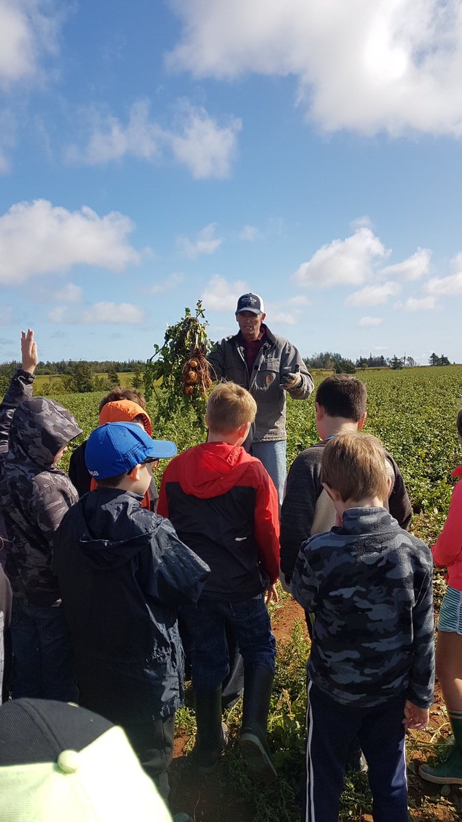
POLYGON ((294 345, 284 337, 272 334, 268 326, 266 337, 256 357, 252 374, 247 371, 243 336, 239 332, 215 344, 208 356, 213 380, 228 380, 247 388, 256 401, 254 442, 286 439, 285 395, 281 381, 287 374, 300 374, 301 385, 288 393, 293 399, 307 399, 313 390, 311 374, 294 345))

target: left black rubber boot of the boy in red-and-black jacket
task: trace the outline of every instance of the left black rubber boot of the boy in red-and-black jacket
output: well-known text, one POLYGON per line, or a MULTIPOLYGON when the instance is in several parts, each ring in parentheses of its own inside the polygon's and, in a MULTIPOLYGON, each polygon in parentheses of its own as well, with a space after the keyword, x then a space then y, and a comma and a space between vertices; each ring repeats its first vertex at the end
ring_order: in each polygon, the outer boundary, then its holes
POLYGON ((202 774, 211 774, 219 762, 228 729, 221 722, 221 686, 217 690, 194 693, 196 711, 196 745, 192 756, 202 774))

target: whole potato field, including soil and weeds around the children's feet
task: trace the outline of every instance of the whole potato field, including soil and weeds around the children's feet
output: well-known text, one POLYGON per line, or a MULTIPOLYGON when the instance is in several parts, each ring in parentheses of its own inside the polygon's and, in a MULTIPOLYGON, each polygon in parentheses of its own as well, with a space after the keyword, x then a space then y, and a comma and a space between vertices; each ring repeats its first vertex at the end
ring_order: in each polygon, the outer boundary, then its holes
MULTIPOLYGON (((327 376, 327 372, 314 373, 315 384, 327 376)), ((404 476, 413 505, 413 532, 428 544, 432 544, 444 524, 454 487, 451 471, 462 461, 460 444, 455 428, 455 418, 462 405, 462 366, 418 367, 403 371, 388 369, 367 369, 357 372, 358 378, 367 386, 367 421, 365 432, 378 436, 386 449, 395 458, 404 476)), ((71 444, 70 450, 89 435, 98 424, 98 404, 102 394, 59 395, 63 405, 75 414, 81 424, 83 434, 71 444)), ((288 398, 288 468, 295 456, 316 442, 314 400, 297 402, 288 398)), ((176 442, 178 450, 203 441, 205 428, 193 410, 182 411, 170 418, 156 414, 155 400, 148 411, 153 420, 154 436, 168 438, 176 442)), ((66 459, 64 467, 67 467, 66 459)), ((156 471, 160 481, 163 464, 156 471)), ((435 575, 435 601, 441 602, 444 590, 441 572, 435 575)), ((271 607, 271 616, 277 633, 278 620, 288 608, 288 595, 282 595, 279 605, 271 607)), ((278 664, 275 688, 269 718, 270 746, 278 767, 279 779, 275 789, 255 792, 249 782, 243 764, 235 748, 231 748, 224 758, 218 788, 209 780, 205 796, 212 793, 210 805, 205 805, 205 815, 219 822, 231 819, 243 822, 296 822, 299 819, 298 793, 303 779, 304 734, 305 734, 305 663, 309 645, 302 624, 295 622, 288 642, 278 641, 278 664), (219 792, 219 796, 215 793, 219 792), (208 815, 215 801, 238 806, 238 815, 208 815), (236 805, 236 803, 238 803, 236 805), (241 804, 239 804, 241 803, 241 804)), ((237 733, 240 709, 236 706, 228 717, 232 733, 237 733)), ((409 774, 409 818, 413 822, 430 820, 460 819, 462 797, 458 787, 445 786, 428 795, 421 780, 413 776, 413 760, 424 761, 428 754, 435 752, 435 746, 444 741, 446 713, 441 698, 432 709, 432 732, 410 732, 408 741, 409 774), (443 734, 440 734, 440 727, 443 734)), ((178 732, 182 737, 193 737, 194 715, 188 709, 178 712, 178 732)), ((188 750, 192 741, 183 748, 188 750)), ((178 760, 173 765, 173 798, 183 801, 188 796, 185 787, 187 767, 178 760), (179 763, 179 764, 178 764, 179 763)), ((207 799, 204 799, 207 803, 207 799)), ((371 820, 371 797, 364 774, 353 774, 346 778, 340 813, 341 822, 361 822, 371 820)))

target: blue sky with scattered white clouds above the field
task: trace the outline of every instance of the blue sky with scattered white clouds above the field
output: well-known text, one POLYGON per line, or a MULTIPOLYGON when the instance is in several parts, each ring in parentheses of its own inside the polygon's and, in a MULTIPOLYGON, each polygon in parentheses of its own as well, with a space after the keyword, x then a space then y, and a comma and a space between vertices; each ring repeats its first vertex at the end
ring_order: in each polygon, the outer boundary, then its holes
POLYGON ((303 356, 462 362, 462 2, 0 0, 0 362, 260 293, 303 356))

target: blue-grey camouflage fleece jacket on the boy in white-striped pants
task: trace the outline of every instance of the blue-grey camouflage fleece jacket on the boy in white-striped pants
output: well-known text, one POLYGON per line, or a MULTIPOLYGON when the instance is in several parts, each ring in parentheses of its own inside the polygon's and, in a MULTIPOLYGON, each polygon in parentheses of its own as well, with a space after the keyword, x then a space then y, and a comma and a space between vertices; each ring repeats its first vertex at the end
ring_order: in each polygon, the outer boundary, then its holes
POLYGON ((307 673, 342 704, 433 700, 432 554, 385 508, 350 508, 300 549, 291 590, 315 614, 307 673))

